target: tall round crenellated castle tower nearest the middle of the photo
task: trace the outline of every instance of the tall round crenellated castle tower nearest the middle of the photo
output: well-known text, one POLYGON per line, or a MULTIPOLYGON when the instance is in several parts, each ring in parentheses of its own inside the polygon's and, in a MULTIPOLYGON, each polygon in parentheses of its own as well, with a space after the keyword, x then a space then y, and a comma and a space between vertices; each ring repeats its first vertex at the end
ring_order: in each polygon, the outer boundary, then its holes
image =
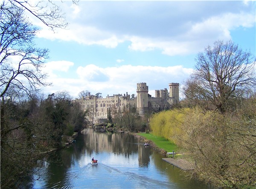
POLYGON ((137 108, 139 114, 144 114, 144 109, 148 107, 148 86, 147 83, 137 83, 137 108))

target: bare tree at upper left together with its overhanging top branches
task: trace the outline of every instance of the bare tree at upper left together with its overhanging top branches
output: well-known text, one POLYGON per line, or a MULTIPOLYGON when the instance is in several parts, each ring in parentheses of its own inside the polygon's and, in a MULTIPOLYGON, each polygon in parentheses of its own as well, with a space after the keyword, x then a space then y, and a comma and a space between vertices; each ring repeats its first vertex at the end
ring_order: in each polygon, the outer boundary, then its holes
MULTIPOLYGON (((73 3, 78 3, 73 0, 73 3)), ((33 27, 24 12, 38 18, 50 29, 66 28, 64 14, 54 1, 4 0, 0 4, 1 97, 12 87, 17 92, 37 92, 48 85, 42 72, 48 49, 35 47, 38 28, 33 27)))

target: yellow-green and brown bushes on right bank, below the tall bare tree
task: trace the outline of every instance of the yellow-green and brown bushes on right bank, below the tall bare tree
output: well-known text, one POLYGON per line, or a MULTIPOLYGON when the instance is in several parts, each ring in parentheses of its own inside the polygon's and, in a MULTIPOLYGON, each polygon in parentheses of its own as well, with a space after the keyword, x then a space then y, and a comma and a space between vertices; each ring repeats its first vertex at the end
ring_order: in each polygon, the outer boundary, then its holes
POLYGON ((228 116, 199 107, 160 112, 152 133, 165 137, 196 164, 199 179, 225 188, 256 185, 256 95, 228 116))

